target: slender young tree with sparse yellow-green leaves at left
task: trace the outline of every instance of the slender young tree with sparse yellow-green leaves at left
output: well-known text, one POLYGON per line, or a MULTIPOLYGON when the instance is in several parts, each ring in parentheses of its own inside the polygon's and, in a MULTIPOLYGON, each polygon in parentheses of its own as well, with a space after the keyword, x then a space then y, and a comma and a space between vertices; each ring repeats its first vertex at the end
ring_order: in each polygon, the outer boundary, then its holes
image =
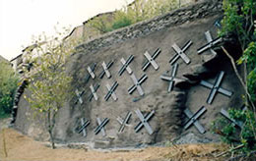
POLYGON ((78 41, 60 37, 66 35, 57 32, 57 36, 47 37, 44 33, 34 38, 34 48, 26 57, 32 62, 31 72, 26 73, 31 95, 26 95, 34 115, 45 119, 45 128, 50 136, 51 146, 55 148, 53 129, 58 111, 70 96, 72 78, 65 71, 68 57, 75 51, 78 41))

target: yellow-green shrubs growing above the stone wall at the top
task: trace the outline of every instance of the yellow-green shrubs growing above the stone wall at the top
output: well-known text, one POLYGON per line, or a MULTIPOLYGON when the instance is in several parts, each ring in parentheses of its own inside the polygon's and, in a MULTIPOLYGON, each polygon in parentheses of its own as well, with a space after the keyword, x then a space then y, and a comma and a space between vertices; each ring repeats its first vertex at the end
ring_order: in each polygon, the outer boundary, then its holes
POLYGON ((177 0, 139 0, 114 12, 112 19, 108 16, 101 16, 93 19, 89 24, 100 33, 105 33, 160 16, 177 7, 177 0))

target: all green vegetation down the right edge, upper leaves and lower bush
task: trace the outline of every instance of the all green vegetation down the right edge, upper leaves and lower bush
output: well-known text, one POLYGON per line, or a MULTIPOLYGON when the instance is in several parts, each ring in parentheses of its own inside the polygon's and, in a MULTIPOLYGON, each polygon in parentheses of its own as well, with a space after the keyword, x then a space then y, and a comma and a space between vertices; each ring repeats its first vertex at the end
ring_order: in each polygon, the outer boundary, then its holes
MULTIPOLYGON (((241 57, 235 62, 223 47, 230 59, 237 78, 242 84, 245 95, 244 104, 247 110, 231 109, 229 115, 242 128, 228 124, 220 119, 214 123, 214 132, 221 134, 224 142, 240 144, 237 148, 243 152, 256 150, 256 1, 255 0, 224 0, 224 19, 221 36, 233 36, 237 39, 242 51, 241 57), (243 75, 237 67, 243 68, 243 75)), ((237 54, 231 51, 232 54, 237 54)))

